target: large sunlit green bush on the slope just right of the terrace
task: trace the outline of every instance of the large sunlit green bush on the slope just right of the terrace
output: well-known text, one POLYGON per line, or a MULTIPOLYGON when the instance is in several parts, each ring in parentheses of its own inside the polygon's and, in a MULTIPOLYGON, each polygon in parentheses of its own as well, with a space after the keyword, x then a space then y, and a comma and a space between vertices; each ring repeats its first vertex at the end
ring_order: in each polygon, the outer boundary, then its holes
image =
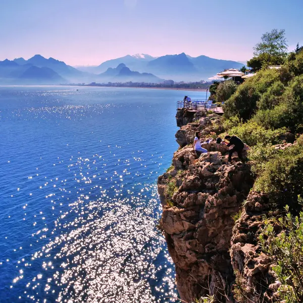
POLYGON ((237 91, 225 102, 224 116, 248 120, 257 111, 257 102, 274 82, 280 81, 276 69, 259 71, 256 76, 248 78, 238 86, 237 91))

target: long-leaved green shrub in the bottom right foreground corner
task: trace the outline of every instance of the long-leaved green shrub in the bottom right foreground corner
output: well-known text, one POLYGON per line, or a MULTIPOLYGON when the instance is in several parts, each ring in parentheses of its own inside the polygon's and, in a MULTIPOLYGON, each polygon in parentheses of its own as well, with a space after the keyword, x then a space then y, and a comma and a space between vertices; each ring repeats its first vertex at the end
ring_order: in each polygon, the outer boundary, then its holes
MULTIPOLYGON (((300 197, 298 201, 302 204, 300 197)), ((303 212, 294 217, 288 206, 285 211, 285 217, 265 221, 260 242, 274 263, 272 269, 281 283, 278 289, 281 301, 296 303, 303 301, 303 212), (280 234, 275 233, 273 224, 282 228, 280 234)))

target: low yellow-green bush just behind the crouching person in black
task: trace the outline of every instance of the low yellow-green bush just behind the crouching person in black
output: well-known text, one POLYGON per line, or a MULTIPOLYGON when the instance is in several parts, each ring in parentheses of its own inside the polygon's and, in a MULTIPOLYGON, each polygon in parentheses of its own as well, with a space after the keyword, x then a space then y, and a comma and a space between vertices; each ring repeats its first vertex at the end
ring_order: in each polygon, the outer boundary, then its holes
POLYGON ((279 135, 285 132, 286 129, 266 129, 254 121, 238 124, 228 131, 230 135, 238 136, 249 146, 258 143, 262 145, 276 144, 279 142, 279 135))

